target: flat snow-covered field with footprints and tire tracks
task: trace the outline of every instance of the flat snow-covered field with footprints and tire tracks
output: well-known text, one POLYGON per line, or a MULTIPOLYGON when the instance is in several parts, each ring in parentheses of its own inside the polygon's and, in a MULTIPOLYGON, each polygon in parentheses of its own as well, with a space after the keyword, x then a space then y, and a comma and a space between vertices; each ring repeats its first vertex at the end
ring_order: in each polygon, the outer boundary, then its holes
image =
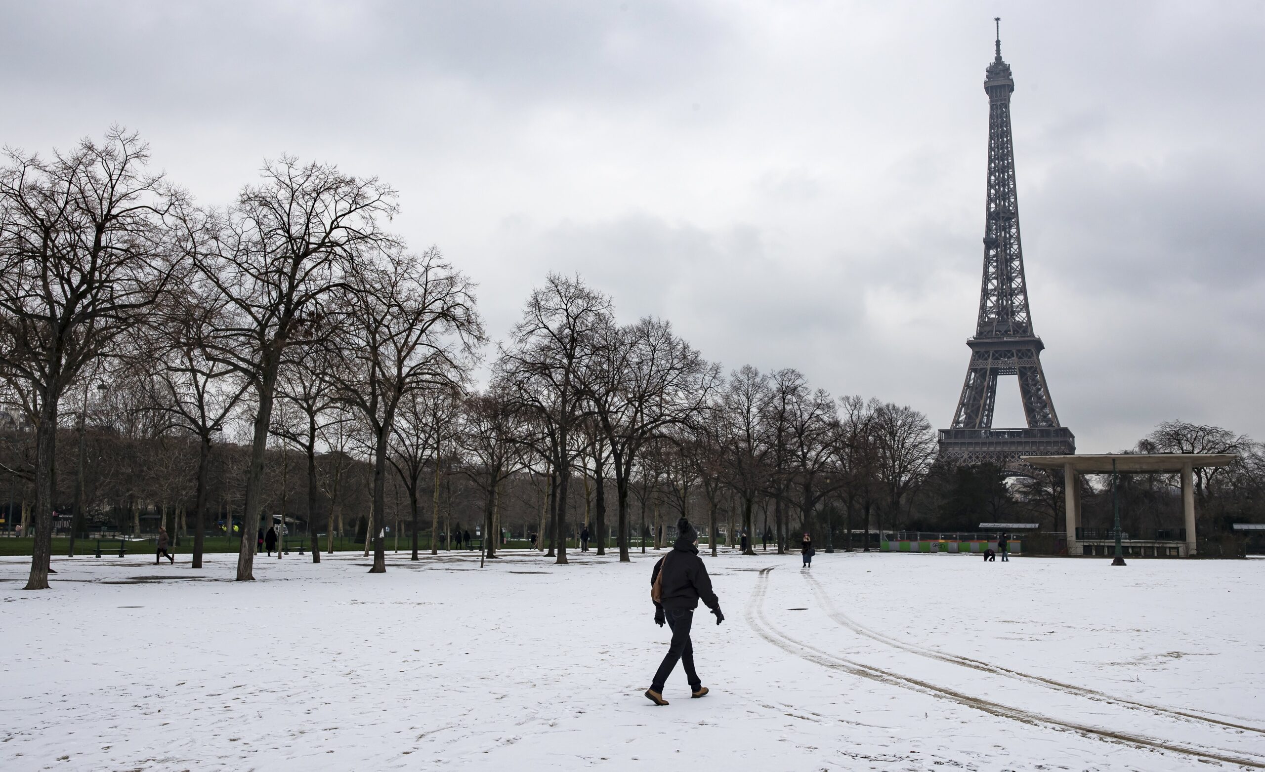
POLYGON ((0 560, 0 769, 1265 768, 1265 561, 722 555, 657 708, 653 553, 234 558, 0 560))

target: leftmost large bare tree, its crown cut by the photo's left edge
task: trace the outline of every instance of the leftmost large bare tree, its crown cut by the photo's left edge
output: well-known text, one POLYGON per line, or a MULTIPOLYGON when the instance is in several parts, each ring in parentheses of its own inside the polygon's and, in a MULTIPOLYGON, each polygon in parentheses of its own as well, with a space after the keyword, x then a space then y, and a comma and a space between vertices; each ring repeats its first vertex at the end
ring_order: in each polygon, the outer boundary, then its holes
POLYGON ((27 589, 48 588, 58 407, 66 389, 142 323, 173 269, 163 219, 181 203, 145 169, 135 134, 70 153, 8 152, 0 169, 0 369, 30 384, 35 543, 27 589))

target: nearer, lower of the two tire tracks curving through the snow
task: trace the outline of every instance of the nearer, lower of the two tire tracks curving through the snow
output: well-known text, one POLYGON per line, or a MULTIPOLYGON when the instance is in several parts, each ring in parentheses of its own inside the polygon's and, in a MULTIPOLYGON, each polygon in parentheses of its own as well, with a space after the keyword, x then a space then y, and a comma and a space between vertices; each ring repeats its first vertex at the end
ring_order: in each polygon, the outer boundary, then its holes
POLYGON ((821 665, 822 667, 829 667, 831 670, 837 670, 846 672, 849 675, 859 676, 861 679, 869 679, 870 681, 877 681, 879 684, 887 684, 889 686, 899 686, 910 691, 916 691, 918 694, 925 694, 929 696, 939 697, 942 700, 949 700, 950 703, 956 703, 966 708, 973 708, 990 715, 996 715, 1003 719, 1011 719, 1020 721, 1022 724, 1030 724, 1035 727, 1046 727, 1055 730, 1075 732, 1083 737, 1092 737, 1094 739, 1122 743, 1126 745, 1132 745, 1135 748, 1141 748, 1144 751, 1160 751, 1179 753, 1182 756, 1189 756, 1203 761, 1218 761, 1227 764, 1238 764, 1242 767, 1249 767, 1252 769, 1265 769, 1265 762, 1242 758, 1237 756, 1228 756, 1225 752, 1209 751, 1204 748, 1193 748, 1187 745, 1178 745, 1174 743, 1165 743, 1163 740, 1152 739, 1149 737, 1142 737, 1137 734, 1130 734, 1125 732, 1113 732, 1111 729, 1103 729, 1099 727, 1089 727, 1087 724, 1078 724, 1075 721, 1065 721, 1061 719, 1055 719, 1047 715, 1041 715, 1039 713, 1032 713, 1028 710, 1022 710, 1020 708, 1011 708, 1009 705, 1002 705, 999 703, 992 703, 989 700, 983 700, 972 695, 963 694, 960 691, 954 691, 944 686, 936 686, 929 681, 922 681, 920 679, 913 679, 910 676, 902 676, 891 671, 885 671, 878 667, 872 667, 869 665, 863 665, 855 662, 846 657, 840 657, 839 654, 831 654, 815 646, 797 641, 791 636, 778 630, 769 623, 768 618, 764 615, 764 596, 768 591, 769 571, 773 569, 760 570, 760 576, 756 580, 755 590, 751 593, 751 599, 748 601, 746 606, 746 622, 751 625, 755 633, 783 649, 787 653, 794 654, 808 662, 821 665))

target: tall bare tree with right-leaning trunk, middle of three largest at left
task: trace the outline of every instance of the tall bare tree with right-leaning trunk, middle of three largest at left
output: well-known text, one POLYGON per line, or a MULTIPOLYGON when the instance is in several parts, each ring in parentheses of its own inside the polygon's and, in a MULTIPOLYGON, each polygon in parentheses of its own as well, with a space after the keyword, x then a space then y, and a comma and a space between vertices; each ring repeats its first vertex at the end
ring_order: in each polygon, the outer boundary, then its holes
POLYGON ((242 373, 256 398, 238 581, 254 579, 264 454, 286 350, 328 335, 326 305, 344 284, 347 265, 393 244, 378 220, 396 212, 390 187, 333 166, 283 157, 266 164, 262 177, 229 210, 219 249, 195 259, 200 293, 225 317, 202 346, 242 373))

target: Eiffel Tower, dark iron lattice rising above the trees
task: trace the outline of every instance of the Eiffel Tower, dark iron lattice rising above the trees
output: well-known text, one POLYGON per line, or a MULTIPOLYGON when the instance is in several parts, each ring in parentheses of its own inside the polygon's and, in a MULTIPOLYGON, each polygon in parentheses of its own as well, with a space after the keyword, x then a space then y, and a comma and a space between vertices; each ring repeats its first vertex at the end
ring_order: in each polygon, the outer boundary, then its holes
POLYGON ((1020 207, 1011 140, 1011 66, 1002 59, 1001 19, 997 57, 984 71, 988 93, 988 206, 984 212, 984 282, 953 428, 940 430, 940 452, 958 464, 990 462, 1013 469, 1018 456, 1075 452, 1071 430, 1059 426, 1050 387, 1041 370, 1045 345, 1032 332, 1020 207), (993 428, 997 377, 1017 375, 1027 427, 993 428))

